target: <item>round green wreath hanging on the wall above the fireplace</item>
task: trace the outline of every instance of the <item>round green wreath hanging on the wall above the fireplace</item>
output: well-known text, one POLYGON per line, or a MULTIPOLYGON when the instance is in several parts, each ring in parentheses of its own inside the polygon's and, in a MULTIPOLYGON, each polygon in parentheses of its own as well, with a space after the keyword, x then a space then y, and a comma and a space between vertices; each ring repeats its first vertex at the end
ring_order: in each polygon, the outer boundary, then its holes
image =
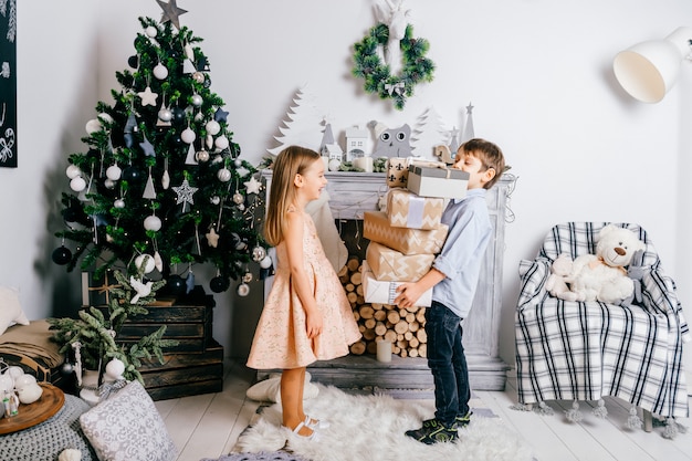
POLYGON ((406 27, 406 34, 399 42, 401 46, 403 69, 400 75, 391 75, 377 54, 377 48, 386 45, 389 40, 389 27, 384 23, 375 25, 368 34, 354 44, 353 75, 364 78, 364 90, 377 93, 380 98, 394 99, 394 105, 401 111, 406 98, 413 95, 413 87, 421 82, 432 82, 434 63, 426 57, 430 44, 426 39, 413 39, 413 28, 406 27))

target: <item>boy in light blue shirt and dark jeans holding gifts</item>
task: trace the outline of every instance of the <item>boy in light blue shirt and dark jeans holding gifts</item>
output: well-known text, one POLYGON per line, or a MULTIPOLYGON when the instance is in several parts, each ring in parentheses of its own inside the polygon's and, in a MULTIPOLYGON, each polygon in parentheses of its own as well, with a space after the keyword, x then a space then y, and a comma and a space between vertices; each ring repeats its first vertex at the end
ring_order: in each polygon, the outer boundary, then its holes
POLYGON ((459 147, 452 168, 469 174, 468 193, 452 199, 442 213, 449 226, 447 241, 430 271, 418 282, 403 283, 394 301, 409 307, 433 287, 432 305, 426 310, 428 366, 434 380, 434 419, 406 432, 420 442, 454 441, 457 429, 469 423, 469 370, 461 343, 461 321, 469 314, 485 249, 493 234, 485 191, 504 170, 502 150, 484 139, 470 139, 459 147))

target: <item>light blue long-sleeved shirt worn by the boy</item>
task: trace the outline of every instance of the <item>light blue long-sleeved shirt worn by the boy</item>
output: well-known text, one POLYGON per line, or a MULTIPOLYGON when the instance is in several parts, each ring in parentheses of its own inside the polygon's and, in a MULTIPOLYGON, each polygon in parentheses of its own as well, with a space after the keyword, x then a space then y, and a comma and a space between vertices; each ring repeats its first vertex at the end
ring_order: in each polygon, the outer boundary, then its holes
POLYGON ((485 189, 471 189, 463 199, 452 199, 441 222, 449 226, 442 251, 433 268, 445 277, 432 289, 432 300, 465 318, 475 295, 485 249, 493 234, 485 189))

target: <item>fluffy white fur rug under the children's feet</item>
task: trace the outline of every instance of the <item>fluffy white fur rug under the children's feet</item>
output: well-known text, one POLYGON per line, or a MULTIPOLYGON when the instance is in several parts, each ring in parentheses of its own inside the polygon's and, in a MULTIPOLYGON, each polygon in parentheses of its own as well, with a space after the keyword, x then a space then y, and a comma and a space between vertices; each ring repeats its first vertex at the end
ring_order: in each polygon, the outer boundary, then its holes
POLYGON ((427 446, 405 436, 432 418, 432 400, 394 399, 390 396, 352 396, 322 386, 305 400, 311 416, 329 422, 317 440, 304 440, 281 428, 281 406, 264 408, 239 437, 234 452, 271 452, 285 449, 312 461, 523 461, 533 450, 500 418, 472 416, 459 431, 459 441, 427 446))

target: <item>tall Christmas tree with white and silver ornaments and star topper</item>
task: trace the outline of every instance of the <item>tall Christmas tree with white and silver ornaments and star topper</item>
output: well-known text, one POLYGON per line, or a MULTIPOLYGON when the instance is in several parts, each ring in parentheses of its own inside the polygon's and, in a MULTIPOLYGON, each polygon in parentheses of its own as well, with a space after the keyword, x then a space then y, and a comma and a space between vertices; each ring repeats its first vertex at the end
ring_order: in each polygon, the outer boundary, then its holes
POLYGON ((70 155, 63 193, 66 230, 53 261, 101 279, 109 268, 166 280, 176 294, 195 286, 193 265, 211 263, 213 292, 248 263, 272 261, 259 232, 258 169, 240 157, 223 101, 210 91, 209 63, 176 1, 159 1, 161 21, 139 18, 130 69, 116 72, 113 104, 98 102, 86 124, 86 153, 70 155), (65 240, 76 243, 71 251, 65 240))

